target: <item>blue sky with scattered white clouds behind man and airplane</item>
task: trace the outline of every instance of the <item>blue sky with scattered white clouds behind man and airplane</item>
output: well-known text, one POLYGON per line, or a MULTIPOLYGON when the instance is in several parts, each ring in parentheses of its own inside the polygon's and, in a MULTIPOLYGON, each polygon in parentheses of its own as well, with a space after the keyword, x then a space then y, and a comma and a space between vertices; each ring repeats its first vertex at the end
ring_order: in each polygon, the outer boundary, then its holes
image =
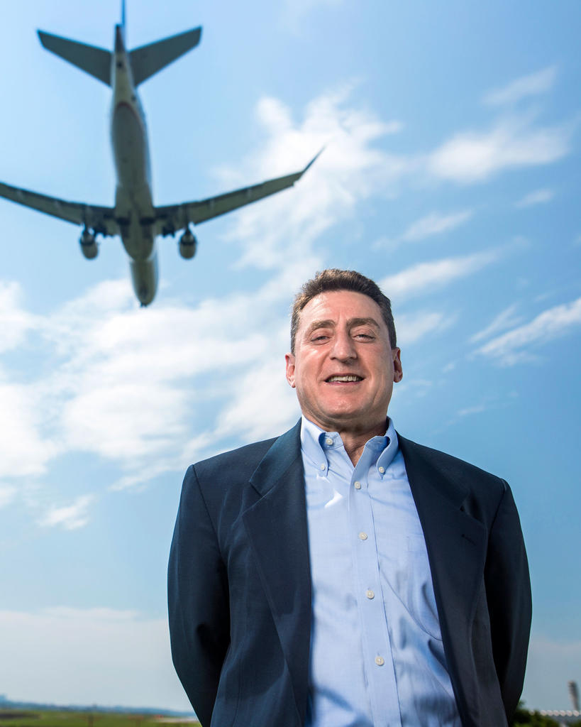
MULTIPOLYGON (((0 180, 112 204, 110 92, 36 28, 110 48, 116 1, 21 0, 0 28, 0 180)), ((117 239, 0 201, 0 691, 186 708, 166 560, 190 462, 282 433, 290 300, 319 269, 391 297, 399 431, 508 479, 529 551, 524 698, 581 681, 580 65, 575 1, 128 3, 129 47, 203 25, 147 81, 157 204, 300 169, 159 242, 137 307, 117 239)))

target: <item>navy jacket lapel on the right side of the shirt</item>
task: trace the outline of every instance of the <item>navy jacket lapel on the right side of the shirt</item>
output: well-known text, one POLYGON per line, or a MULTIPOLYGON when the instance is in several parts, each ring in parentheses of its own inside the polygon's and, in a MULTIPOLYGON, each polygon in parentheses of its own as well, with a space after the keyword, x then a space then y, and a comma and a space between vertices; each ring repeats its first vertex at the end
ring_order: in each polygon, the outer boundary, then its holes
POLYGON ((487 533, 463 510, 468 489, 447 477, 439 453, 398 435, 430 562, 444 652, 461 715, 478 704, 471 626, 482 594, 487 533))

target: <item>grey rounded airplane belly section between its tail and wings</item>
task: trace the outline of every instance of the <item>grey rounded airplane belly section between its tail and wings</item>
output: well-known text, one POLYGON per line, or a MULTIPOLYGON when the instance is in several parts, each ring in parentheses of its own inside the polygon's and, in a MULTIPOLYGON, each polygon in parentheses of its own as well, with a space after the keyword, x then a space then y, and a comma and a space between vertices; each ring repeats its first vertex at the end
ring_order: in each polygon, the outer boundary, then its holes
POLYGON ((119 103, 111 126, 118 182, 126 189, 145 185, 149 177, 147 140, 142 123, 129 103, 119 103))

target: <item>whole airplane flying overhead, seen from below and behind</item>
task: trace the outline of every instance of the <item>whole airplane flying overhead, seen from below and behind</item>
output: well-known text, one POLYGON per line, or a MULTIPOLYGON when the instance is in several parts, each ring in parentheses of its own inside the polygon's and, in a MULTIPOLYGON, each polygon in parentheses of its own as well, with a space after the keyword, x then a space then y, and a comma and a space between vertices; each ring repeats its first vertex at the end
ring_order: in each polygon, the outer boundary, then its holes
POLYGON ((196 47, 201 34, 201 27, 192 28, 127 50, 125 0, 121 4, 121 23, 115 25, 113 52, 38 31, 38 38, 46 50, 113 89, 110 134, 117 178, 115 206, 66 201, 0 182, 0 197, 82 225, 79 243, 88 260, 93 260, 99 252, 97 236, 121 236, 129 255, 134 292, 142 306, 153 301, 158 287, 156 237, 173 237, 176 232, 184 230, 179 237, 179 254, 190 260, 197 247, 191 229, 193 225, 291 187, 320 154, 317 153, 299 172, 251 187, 200 201, 164 206, 153 204, 147 126, 137 87, 196 47))

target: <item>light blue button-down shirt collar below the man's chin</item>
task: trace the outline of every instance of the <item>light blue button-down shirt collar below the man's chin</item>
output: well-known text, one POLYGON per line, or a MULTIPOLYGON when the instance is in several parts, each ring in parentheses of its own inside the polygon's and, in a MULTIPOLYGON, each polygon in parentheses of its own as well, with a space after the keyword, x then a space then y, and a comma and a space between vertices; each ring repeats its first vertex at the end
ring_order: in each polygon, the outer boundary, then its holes
MULTIPOLYGON (((327 462, 327 451, 338 449, 343 446, 343 441, 338 432, 325 432, 306 417, 301 417, 301 450, 307 459, 310 459, 317 468, 320 463, 327 462)), ((369 459, 370 466, 375 464, 379 475, 383 478, 387 468, 391 464, 398 450, 397 433, 394 422, 390 417, 386 419, 386 433, 383 436, 375 436, 365 443, 364 454, 361 459, 369 459), (367 457, 365 457, 367 454, 367 457)), ((361 460, 359 460, 361 461, 361 460)))

